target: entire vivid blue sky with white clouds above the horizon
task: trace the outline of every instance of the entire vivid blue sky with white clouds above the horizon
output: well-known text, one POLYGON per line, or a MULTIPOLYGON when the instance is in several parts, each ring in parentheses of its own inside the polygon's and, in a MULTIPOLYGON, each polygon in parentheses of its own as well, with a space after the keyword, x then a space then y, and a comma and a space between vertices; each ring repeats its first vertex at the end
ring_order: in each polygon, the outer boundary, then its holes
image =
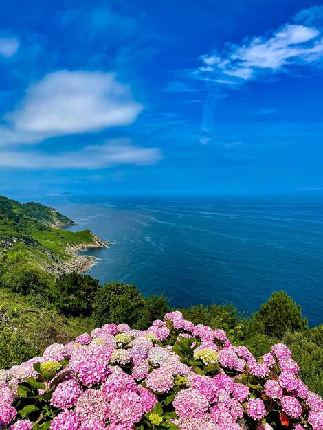
POLYGON ((315 1, 0 3, 0 192, 323 191, 315 1))

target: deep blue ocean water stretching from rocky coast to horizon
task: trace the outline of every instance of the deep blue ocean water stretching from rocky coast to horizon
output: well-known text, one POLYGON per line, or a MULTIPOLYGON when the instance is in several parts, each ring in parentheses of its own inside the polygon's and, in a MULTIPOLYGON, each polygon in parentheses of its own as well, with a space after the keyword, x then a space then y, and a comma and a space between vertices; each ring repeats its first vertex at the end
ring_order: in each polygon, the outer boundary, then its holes
POLYGON ((248 313, 284 289, 321 324, 323 197, 93 198, 47 202, 113 242, 85 253, 100 282, 135 282, 174 306, 233 303, 248 313))

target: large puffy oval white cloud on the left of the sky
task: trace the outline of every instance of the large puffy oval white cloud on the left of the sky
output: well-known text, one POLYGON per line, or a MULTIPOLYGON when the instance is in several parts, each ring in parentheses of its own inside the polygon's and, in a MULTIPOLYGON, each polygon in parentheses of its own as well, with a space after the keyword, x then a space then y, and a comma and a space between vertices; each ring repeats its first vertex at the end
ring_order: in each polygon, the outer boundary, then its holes
POLYGON ((125 126, 142 109, 114 73, 63 70, 32 84, 7 119, 16 131, 52 137, 125 126))

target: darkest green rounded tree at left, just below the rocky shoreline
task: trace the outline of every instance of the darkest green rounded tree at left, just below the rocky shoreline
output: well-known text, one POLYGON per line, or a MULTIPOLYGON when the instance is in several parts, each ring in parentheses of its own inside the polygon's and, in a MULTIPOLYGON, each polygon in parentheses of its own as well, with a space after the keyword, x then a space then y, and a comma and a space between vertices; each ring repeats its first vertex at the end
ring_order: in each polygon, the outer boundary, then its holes
POLYGON ((99 281, 89 275, 70 273, 56 279, 50 297, 65 316, 91 315, 93 299, 100 288, 99 281))

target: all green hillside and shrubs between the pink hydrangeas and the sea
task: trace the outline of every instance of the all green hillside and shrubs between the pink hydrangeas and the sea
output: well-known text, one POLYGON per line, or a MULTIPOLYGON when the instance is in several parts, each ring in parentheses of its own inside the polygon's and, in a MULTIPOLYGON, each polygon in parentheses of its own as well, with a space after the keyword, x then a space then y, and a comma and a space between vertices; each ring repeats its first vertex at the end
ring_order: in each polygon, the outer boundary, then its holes
MULTIPOLYGON (((52 208, 0 197, 0 367, 108 322, 144 330, 170 310, 166 297, 144 297, 134 284, 100 286, 89 275, 49 273, 55 260, 59 266, 70 258, 67 246, 93 241, 88 230, 52 228, 71 223, 52 208)), ((247 346, 256 357, 274 343, 286 343, 303 381, 323 394, 323 325, 309 329, 300 306, 284 291, 274 293, 251 316, 219 304, 179 310, 194 324, 225 330, 232 343, 247 346)))

